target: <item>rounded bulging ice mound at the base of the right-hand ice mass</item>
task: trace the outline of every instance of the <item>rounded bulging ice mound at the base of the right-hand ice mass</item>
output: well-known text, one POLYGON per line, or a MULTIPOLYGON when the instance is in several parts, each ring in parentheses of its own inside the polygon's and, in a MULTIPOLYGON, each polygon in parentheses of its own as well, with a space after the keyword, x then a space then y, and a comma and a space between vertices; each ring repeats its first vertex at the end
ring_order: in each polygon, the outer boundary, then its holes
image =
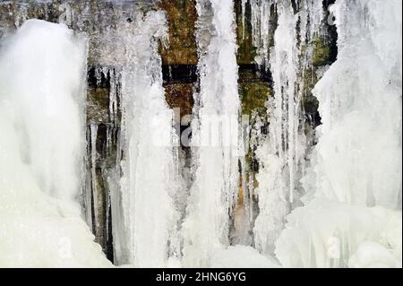
POLYGON ((285 267, 401 266, 401 224, 401 212, 315 199, 287 217, 276 256, 285 267))

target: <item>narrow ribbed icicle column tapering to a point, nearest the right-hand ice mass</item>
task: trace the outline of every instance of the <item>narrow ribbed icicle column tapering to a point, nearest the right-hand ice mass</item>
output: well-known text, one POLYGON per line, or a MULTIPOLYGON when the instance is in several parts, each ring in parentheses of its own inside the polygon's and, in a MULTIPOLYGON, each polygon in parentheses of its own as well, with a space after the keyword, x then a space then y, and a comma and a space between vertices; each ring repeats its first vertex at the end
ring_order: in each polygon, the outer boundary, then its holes
POLYGON ((296 32, 301 13, 295 13, 287 2, 277 2, 277 10, 279 26, 270 53, 274 99, 270 99, 269 104, 268 140, 257 151, 262 165, 257 177, 261 213, 254 228, 256 246, 269 254, 274 250, 287 213, 297 202, 307 148, 300 107, 304 79, 298 74, 304 64, 300 62, 302 46, 297 45, 296 32))

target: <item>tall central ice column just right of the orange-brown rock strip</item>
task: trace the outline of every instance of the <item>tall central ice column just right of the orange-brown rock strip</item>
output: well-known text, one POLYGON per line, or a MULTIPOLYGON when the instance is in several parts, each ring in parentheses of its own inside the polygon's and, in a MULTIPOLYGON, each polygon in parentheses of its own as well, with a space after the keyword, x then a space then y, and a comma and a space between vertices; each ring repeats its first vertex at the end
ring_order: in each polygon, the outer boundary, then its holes
POLYGON ((195 178, 184 221, 184 265, 209 266, 228 244, 229 216, 239 186, 234 3, 197 1, 200 93, 195 95, 195 178))

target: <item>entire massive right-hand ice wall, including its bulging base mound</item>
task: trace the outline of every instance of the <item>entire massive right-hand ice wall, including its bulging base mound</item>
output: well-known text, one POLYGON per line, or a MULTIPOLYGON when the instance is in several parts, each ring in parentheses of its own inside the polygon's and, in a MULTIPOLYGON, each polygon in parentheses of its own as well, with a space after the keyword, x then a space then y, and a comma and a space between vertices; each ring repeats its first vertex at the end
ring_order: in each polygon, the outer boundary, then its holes
POLYGON ((286 266, 401 267, 400 10, 400 1, 332 6, 339 56, 313 91, 323 125, 303 180, 307 206, 276 244, 286 266))

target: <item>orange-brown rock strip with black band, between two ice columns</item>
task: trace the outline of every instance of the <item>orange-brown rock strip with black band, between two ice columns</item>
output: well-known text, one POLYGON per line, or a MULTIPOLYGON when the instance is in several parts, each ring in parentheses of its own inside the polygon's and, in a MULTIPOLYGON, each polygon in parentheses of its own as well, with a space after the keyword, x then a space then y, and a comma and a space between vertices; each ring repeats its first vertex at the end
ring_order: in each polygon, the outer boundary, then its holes
MULTIPOLYGON (((160 47, 162 57, 164 88, 167 104, 179 111, 177 125, 185 116, 193 114, 193 92, 198 85, 197 44, 195 24, 197 20, 195 0, 162 0, 159 8, 166 11, 168 22, 167 48, 160 47)), ((181 126, 184 130, 185 126, 181 126)), ((185 149, 187 157, 190 149, 185 149)))

